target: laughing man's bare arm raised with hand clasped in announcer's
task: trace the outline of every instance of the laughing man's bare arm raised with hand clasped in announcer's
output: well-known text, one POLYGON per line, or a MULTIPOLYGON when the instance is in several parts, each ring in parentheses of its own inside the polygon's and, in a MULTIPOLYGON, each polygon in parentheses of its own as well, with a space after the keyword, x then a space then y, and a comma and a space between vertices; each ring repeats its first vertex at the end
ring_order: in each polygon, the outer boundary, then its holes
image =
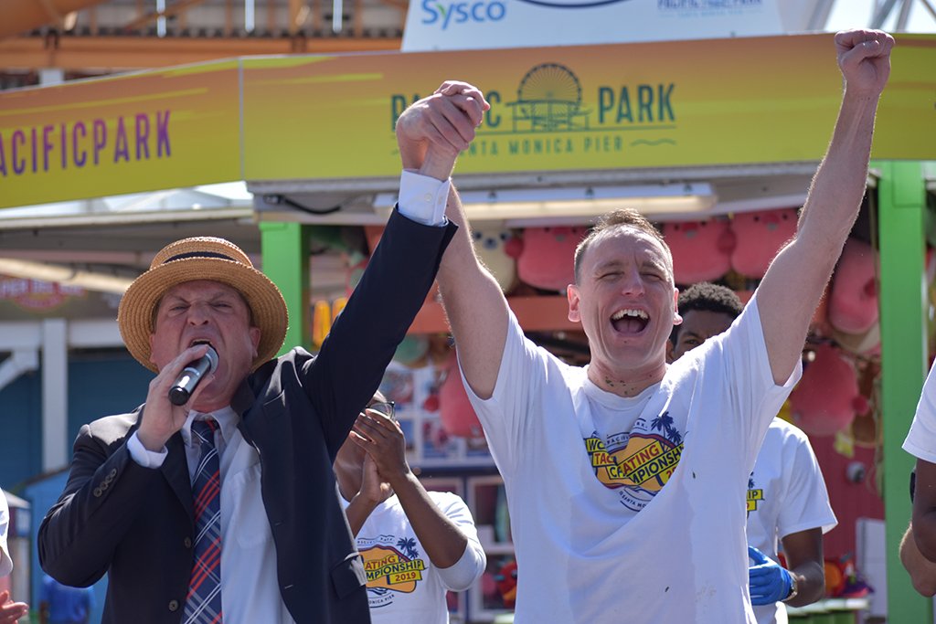
MULTIPOLYGON (((459 152, 475 138, 475 127, 486 109, 488 103, 481 92, 465 82, 446 81, 434 94, 417 101, 397 122, 403 168, 446 180, 459 152)), ((507 302, 475 255, 454 188, 448 196, 446 215, 459 229, 439 267, 439 291, 458 345, 461 370, 475 394, 488 399, 504 355, 507 302)))

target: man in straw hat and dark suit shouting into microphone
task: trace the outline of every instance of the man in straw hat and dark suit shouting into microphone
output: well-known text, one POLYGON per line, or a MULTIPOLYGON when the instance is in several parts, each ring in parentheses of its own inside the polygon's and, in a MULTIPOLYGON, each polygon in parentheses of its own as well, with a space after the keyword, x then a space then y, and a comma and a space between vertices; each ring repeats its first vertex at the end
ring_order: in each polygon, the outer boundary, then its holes
POLYGON ((410 217, 390 216, 317 356, 276 357, 285 302, 237 246, 156 254, 117 314, 156 376, 145 404, 80 429, 39 530, 43 569, 73 586, 108 573, 104 622, 370 621, 331 466, 455 230, 410 217), (174 405, 170 386, 210 348, 216 370, 174 405))

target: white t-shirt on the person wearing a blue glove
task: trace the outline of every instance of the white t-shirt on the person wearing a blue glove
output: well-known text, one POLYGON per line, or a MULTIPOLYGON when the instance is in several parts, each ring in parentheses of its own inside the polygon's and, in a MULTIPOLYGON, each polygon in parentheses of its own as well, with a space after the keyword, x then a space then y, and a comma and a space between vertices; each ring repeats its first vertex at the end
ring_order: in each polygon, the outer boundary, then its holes
MULTIPOLYGON (((832 530, 839 523, 809 438, 774 418, 748 482, 748 544, 779 561, 779 541, 801 530, 832 530)), ((786 624, 782 602, 753 605, 758 624, 786 624)))

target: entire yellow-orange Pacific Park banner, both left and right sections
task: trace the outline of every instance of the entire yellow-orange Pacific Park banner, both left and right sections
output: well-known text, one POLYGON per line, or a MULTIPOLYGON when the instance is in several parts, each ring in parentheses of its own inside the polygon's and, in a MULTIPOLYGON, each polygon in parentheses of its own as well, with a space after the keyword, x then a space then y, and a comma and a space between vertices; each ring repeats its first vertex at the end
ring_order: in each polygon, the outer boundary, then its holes
MULTIPOLYGON (((936 36, 892 65, 872 156, 936 160, 936 36)), ((461 173, 816 161, 841 99, 828 34, 243 58, 0 93, 0 208, 393 178, 396 118, 446 79, 491 103, 461 173)))

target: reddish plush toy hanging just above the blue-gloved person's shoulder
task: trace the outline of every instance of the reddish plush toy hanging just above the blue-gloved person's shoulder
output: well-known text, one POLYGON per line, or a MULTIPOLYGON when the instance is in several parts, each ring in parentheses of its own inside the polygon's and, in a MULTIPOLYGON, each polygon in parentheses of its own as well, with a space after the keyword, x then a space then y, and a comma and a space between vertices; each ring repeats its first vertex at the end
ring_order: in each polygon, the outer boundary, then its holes
POLYGON ((828 436, 848 427, 868 411, 852 362, 829 345, 815 348, 815 359, 790 393, 793 422, 811 435, 828 436))

